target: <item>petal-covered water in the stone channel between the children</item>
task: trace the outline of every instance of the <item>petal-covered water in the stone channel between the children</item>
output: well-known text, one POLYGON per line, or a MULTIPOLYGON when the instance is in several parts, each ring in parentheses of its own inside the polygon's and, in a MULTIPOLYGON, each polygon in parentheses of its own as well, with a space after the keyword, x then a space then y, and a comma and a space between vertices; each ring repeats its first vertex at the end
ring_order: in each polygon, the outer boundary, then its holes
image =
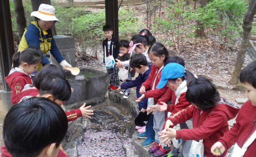
POLYGON ((124 145, 132 145, 134 119, 128 108, 113 102, 96 106, 84 131, 79 157, 125 157, 124 145))

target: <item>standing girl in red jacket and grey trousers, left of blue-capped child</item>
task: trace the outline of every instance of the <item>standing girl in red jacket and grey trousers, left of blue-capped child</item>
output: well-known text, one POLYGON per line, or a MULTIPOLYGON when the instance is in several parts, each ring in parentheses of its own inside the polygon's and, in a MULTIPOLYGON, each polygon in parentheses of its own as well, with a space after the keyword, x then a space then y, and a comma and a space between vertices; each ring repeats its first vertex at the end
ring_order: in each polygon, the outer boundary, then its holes
MULTIPOLYGON (((164 148, 160 148, 158 146, 158 132, 163 128, 163 123, 165 122, 165 112, 160 112, 157 110, 157 103, 160 104, 159 99, 166 92, 167 87, 163 87, 162 89, 156 89, 158 82, 160 81, 161 71, 165 65, 166 60, 169 58, 169 52, 163 46, 163 44, 155 43, 152 47, 150 47, 148 51, 149 58, 153 64, 150 75, 148 79, 141 85, 140 93, 142 96, 138 98, 136 101, 140 102, 144 98, 148 98, 148 108, 147 112, 154 114, 154 131, 155 131, 155 142, 153 146, 148 150, 150 154, 153 154, 154 157, 162 157, 166 155, 171 148, 167 145, 164 148), (147 90, 150 89, 150 90, 147 90)), ((166 101, 169 97, 166 97, 166 101)), ((163 100, 163 102, 166 102, 163 100)), ((138 137, 143 136, 143 134, 137 134, 138 137)))

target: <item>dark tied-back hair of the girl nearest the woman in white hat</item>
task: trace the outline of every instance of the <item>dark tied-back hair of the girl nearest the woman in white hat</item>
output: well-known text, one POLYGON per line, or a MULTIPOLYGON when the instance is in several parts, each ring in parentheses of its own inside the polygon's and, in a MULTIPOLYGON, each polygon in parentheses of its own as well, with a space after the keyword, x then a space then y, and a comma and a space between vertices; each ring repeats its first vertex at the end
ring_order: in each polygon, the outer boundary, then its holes
POLYGON ((37 47, 29 47, 24 51, 16 52, 12 56, 13 67, 19 67, 21 62, 25 62, 27 64, 36 64, 41 62, 43 58, 43 54, 40 49, 37 47))

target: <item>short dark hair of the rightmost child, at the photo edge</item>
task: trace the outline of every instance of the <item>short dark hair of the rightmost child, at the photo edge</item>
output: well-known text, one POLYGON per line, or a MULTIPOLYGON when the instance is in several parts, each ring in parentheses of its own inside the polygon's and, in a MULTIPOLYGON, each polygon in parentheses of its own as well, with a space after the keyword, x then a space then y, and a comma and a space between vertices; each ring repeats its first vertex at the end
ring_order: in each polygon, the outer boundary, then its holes
POLYGON ((241 70, 240 82, 247 82, 256 88, 256 61, 251 62, 243 70, 241 70))

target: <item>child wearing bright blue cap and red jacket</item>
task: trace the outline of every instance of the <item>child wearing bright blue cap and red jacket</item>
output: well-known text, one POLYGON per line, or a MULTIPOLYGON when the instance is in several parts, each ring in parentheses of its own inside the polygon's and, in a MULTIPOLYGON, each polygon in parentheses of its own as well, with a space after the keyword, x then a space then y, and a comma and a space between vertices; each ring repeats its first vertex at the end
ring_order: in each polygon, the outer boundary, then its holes
MULTIPOLYGON (((157 84, 157 88, 161 89, 167 84, 167 87, 173 91, 171 96, 172 105, 167 105, 166 103, 162 102, 163 105, 159 105, 158 110, 168 111, 168 116, 170 116, 188 107, 190 102, 186 100, 187 84, 194 79, 195 76, 189 71, 185 70, 182 65, 177 63, 167 64, 162 70, 162 75, 159 83, 157 84)), ((174 128, 175 130, 192 128, 192 121, 188 120, 185 123, 176 125, 174 128)), ((170 153, 172 154, 172 157, 179 156, 181 144, 181 155, 185 157, 188 155, 188 151, 192 143, 191 140, 181 141, 174 138, 172 139, 172 142, 174 145, 172 153, 170 153)))

